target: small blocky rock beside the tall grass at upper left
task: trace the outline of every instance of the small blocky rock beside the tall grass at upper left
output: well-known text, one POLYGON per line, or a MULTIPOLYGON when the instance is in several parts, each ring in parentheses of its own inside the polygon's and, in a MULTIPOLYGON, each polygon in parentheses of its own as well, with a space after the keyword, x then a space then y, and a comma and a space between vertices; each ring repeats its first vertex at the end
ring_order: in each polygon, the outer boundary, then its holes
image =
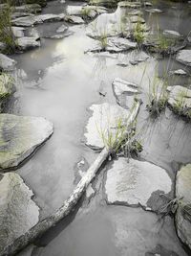
POLYGON ((20 37, 17 39, 17 46, 21 51, 27 51, 40 46, 38 37, 20 37))

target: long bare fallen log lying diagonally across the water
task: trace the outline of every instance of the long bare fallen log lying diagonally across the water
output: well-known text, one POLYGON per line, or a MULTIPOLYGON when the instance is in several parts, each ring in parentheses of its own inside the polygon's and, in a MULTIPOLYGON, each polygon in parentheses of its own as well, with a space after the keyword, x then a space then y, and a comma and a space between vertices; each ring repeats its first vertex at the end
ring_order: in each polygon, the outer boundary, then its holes
MULTIPOLYGON (((131 112, 128 120, 127 127, 136 119, 138 115, 140 102, 137 101, 136 105, 131 112)), ((34 225, 28 232, 24 235, 20 236, 16 240, 14 240, 11 244, 9 244, 4 251, 0 254, 0 256, 11 256, 15 255, 17 252, 25 248, 28 244, 32 244, 36 238, 42 236, 46 231, 48 231, 53 225, 55 225, 58 221, 61 221, 67 215, 69 215, 74 206, 78 202, 79 198, 83 195, 88 185, 96 176, 96 173, 100 169, 101 165, 108 158, 112 149, 107 149, 106 147, 98 154, 93 165, 88 169, 87 173, 83 175, 77 186, 75 187, 73 193, 70 197, 64 201, 63 205, 50 217, 39 221, 36 225, 34 225)))

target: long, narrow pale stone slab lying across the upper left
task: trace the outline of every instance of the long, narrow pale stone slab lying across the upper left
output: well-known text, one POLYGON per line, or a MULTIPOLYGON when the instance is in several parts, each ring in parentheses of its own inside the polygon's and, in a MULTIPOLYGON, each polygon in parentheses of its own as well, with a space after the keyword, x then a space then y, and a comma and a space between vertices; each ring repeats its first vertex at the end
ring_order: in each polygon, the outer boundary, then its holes
POLYGON ((35 24, 43 22, 53 22, 64 20, 65 14, 41 14, 41 15, 30 15, 25 17, 19 17, 12 20, 12 24, 21 27, 31 27, 35 24))

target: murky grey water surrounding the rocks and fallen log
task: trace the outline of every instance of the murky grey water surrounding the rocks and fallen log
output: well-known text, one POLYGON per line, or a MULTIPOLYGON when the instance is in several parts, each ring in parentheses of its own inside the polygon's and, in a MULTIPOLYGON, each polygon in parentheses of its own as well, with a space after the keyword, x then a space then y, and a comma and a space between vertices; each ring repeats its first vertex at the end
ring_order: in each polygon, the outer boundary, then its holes
MULTIPOLYGON (((164 12, 152 15, 145 12, 145 18, 153 26, 159 24, 161 29, 187 35, 191 11, 184 5, 173 6, 167 10, 162 1, 157 7, 164 12)), ((53 1, 43 12, 61 11, 53 1)), ((41 25, 37 29, 40 33, 51 33, 59 25, 41 25)), ((94 42, 85 35, 85 27, 71 26, 74 35, 59 40, 43 39, 40 49, 14 57, 18 61, 15 72, 18 88, 10 111, 43 116, 54 125, 51 140, 17 171, 32 187, 41 218, 53 213, 72 192, 76 162, 85 157, 91 164, 96 158, 96 153, 83 143, 83 131, 90 115, 88 106, 116 102, 112 81, 117 77, 138 84, 141 81, 146 103, 148 81, 154 79, 156 72, 161 77, 166 69, 183 67, 173 58, 169 63, 169 59, 150 56, 136 66, 121 67, 117 65, 121 55, 85 55, 84 51, 94 42), (146 76, 142 77, 145 68, 146 76), (98 94, 101 84, 107 92, 105 98, 98 94)), ((186 71, 190 72, 187 67, 186 71)), ((175 82, 190 84, 189 77, 174 78, 170 84, 175 82)), ((141 157, 166 169, 173 179, 180 164, 190 162, 191 125, 178 120, 170 110, 154 121, 148 118, 143 105, 138 115, 138 132, 140 138, 144 135, 141 157)), ((104 176, 98 179, 103 181, 104 176)), ((100 196, 102 187, 97 190, 99 193, 91 205, 79 207, 68 221, 61 221, 38 241, 44 247, 35 248, 33 256, 188 255, 176 236, 173 219, 167 217, 161 223, 157 215, 139 208, 107 206, 100 196)))

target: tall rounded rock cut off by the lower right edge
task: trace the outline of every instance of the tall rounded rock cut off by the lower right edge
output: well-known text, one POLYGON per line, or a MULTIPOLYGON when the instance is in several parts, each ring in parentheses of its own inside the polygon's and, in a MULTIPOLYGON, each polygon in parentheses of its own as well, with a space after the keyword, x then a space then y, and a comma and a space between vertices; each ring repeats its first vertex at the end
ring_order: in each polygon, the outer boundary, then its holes
POLYGON ((176 197, 180 199, 176 213, 176 227, 182 243, 191 249, 191 164, 177 174, 176 197))

